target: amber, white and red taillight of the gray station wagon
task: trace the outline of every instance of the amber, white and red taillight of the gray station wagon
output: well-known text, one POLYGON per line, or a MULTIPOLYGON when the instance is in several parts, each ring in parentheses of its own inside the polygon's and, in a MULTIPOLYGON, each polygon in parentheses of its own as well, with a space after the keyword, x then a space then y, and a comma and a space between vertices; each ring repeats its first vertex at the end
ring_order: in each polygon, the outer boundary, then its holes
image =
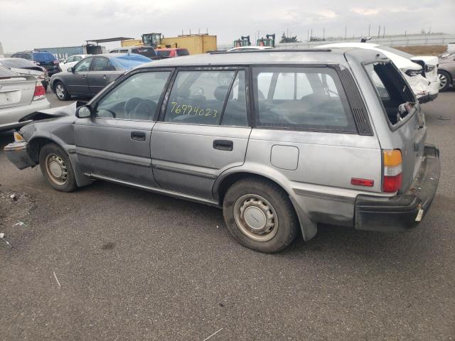
POLYGON ((382 151, 382 164, 384 165, 384 178, 382 178, 382 191, 394 193, 400 190, 402 181, 402 157, 399 149, 382 151))

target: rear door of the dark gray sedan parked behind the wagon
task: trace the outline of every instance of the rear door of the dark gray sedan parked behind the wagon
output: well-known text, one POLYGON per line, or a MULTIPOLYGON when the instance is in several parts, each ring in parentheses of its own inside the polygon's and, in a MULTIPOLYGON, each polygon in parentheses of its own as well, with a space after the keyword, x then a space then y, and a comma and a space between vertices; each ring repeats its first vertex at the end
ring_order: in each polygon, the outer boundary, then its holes
POLYGON ((95 57, 90 73, 87 75, 90 94, 95 95, 103 87, 114 81, 121 71, 116 70, 109 58, 95 57))

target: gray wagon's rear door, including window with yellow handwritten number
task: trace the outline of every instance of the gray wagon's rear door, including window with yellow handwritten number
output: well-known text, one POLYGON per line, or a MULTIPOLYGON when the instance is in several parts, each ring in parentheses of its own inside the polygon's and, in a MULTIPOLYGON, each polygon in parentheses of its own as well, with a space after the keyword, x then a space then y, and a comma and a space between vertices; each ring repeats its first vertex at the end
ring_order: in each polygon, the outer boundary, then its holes
POLYGON ((151 133, 161 188, 210 200, 218 175, 244 163, 251 132, 246 73, 235 67, 178 70, 151 133))

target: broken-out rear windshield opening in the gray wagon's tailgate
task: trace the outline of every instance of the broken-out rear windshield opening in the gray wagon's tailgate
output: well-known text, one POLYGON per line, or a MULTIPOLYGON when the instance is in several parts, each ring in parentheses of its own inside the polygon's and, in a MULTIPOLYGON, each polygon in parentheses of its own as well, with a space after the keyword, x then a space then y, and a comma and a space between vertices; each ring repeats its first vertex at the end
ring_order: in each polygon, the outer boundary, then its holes
POLYGON ((414 109, 415 97, 407 82, 392 63, 365 65, 370 80, 378 91, 390 124, 400 123, 414 109))

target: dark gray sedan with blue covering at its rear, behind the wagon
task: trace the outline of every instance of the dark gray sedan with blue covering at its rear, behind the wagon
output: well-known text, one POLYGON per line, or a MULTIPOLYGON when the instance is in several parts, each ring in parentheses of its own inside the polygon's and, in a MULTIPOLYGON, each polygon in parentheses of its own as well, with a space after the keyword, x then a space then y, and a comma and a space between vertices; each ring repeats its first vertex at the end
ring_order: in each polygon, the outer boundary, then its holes
POLYGON ((106 53, 80 60, 50 79, 50 87, 60 101, 71 96, 92 97, 125 71, 151 62, 150 58, 134 53, 106 53))

